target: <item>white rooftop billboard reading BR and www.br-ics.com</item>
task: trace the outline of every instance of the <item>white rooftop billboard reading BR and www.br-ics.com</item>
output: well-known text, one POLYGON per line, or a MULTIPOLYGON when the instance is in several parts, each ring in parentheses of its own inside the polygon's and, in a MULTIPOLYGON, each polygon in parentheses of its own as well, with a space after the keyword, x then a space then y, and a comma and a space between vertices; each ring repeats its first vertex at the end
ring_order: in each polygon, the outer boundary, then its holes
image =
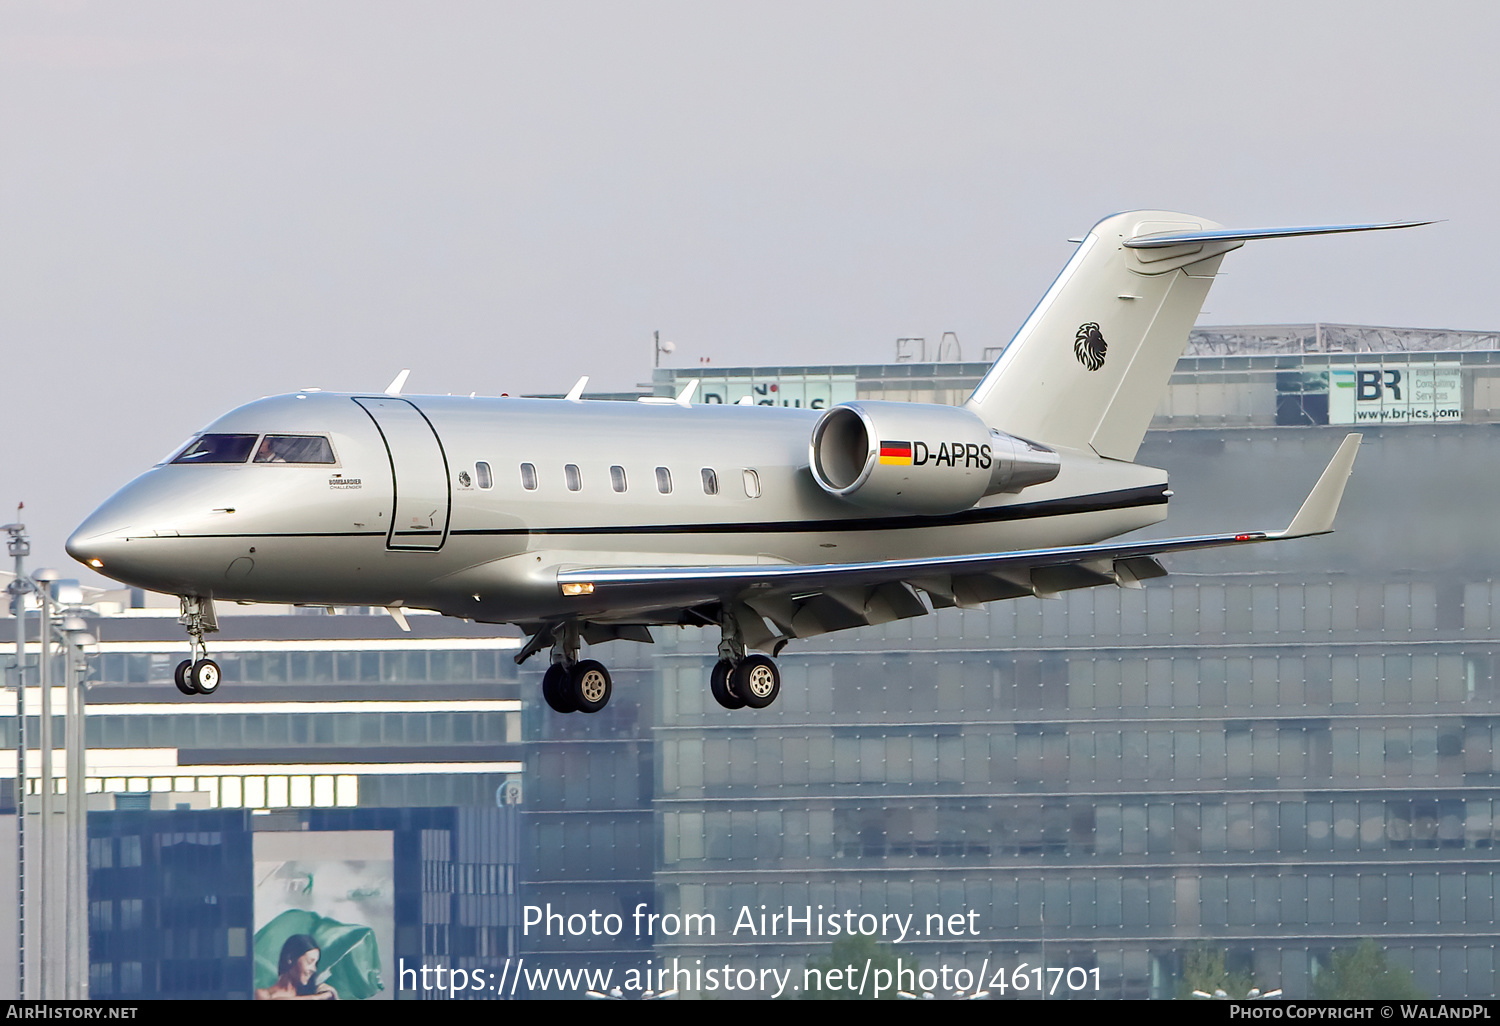
POLYGON ((1437 424, 1464 418, 1458 363, 1360 360, 1329 369, 1328 423, 1437 424))

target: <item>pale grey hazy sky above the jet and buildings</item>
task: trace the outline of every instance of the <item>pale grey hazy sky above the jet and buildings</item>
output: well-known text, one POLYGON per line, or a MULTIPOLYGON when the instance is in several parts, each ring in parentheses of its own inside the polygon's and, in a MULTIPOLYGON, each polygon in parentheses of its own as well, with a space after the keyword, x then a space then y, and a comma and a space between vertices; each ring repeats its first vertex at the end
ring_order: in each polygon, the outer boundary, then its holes
POLYGON ((1004 344, 1107 213, 1203 322, 1500 328, 1482 3, 0 6, 0 519, 33 566, 219 412, 1004 344))

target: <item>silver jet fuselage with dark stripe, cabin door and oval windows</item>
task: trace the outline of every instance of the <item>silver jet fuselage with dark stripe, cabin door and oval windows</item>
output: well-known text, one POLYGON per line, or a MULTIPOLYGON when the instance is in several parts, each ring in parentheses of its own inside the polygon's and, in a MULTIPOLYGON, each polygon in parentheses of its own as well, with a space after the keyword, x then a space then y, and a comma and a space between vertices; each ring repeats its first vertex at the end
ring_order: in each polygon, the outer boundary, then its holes
MULTIPOLYGON (((1166 516, 1166 472, 1076 450, 1062 452, 1054 480, 962 513, 880 514, 814 482, 818 417, 774 406, 273 396, 204 430, 249 440, 254 456, 158 465, 94 512, 68 549, 168 594, 408 606, 494 622, 652 622, 650 610, 561 596, 556 570, 1083 544, 1166 516), (270 438, 326 438, 332 462, 262 460, 270 438)), ((944 440, 927 441, 936 458, 944 440)))

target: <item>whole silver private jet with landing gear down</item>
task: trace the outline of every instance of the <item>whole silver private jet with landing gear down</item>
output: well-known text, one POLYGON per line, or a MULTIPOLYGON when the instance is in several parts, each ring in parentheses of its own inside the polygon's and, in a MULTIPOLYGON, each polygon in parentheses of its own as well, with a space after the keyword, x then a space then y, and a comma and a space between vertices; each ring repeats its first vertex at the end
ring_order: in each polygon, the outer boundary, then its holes
MULTIPOLYGON (((189 694, 219 687, 214 602, 384 606, 516 624, 543 696, 596 712, 580 644, 720 630, 728 708, 780 692, 798 638, 1070 588, 1137 588, 1156 556, 1332 530, 1348 435, 1282 531, 1108 542, 1166 518, 1136 452, 1224 254, 1248 240, 1419 222, 1226 230, 1106 218, 962 406, 825 411, 676 400, 303 390, 208 424, 68 540, 81 562, 182 598, 189 694)), ((1425 222, 1422 222, 1425 224, 1425 222)))

